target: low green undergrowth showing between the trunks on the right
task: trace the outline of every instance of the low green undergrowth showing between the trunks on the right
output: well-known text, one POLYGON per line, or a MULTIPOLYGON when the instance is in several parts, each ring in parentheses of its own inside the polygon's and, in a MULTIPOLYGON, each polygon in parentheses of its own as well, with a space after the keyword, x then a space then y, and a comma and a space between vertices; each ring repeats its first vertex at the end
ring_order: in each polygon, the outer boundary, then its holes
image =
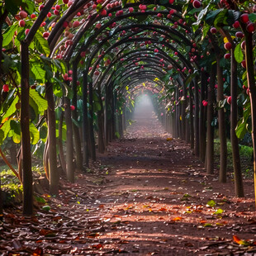
MULTIPOLYGON (((227 141, 227 149, 228 149, 228 158, 227 158, 227 169, 228 172, 233 172, 233 158, 232 158, 232 148, 231 142, 227 141)), ((220 168, 220 140, 214 140, 214 152, 215 152, 215 162, 216 168, 220 168)), ((242 172, 244 176, 247 178, 252 178, 254 173, 254 162, 253 162, 253 154, 254 149, 252 147, 246 145, 239 145, 239 154, 240 154, 240 162, 242 172)))

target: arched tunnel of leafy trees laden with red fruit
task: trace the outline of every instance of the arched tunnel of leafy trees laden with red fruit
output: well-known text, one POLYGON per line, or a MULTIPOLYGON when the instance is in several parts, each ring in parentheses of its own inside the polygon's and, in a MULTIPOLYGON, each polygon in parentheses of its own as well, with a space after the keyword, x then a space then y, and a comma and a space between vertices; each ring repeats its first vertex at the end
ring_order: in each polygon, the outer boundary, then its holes
POLYGON ((242 2, 2 2, 0 142, 21 147, 24 214, 33 212, 31 148, 44 147, 57 195, 57 164, 73 183, 75 168, 84 171, 124 134, 141 90, 154 98, 165 129, 206 161, 208 174, 218 130, 220 183, 230 118, 235 193, 244 197, 239 140, 251 133, 255 159, 256 16, 253 1, 242 2))

